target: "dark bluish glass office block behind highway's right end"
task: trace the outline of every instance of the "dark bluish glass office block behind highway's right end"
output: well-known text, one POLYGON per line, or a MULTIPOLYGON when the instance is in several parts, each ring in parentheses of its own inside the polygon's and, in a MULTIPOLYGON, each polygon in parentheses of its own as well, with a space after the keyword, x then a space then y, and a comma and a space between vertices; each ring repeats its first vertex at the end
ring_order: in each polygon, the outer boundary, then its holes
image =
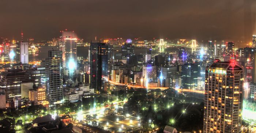
POLYGON ((183 89, 196 89, 199 75, 199 64, 185 63, 181 66, 181 87, 183 89))

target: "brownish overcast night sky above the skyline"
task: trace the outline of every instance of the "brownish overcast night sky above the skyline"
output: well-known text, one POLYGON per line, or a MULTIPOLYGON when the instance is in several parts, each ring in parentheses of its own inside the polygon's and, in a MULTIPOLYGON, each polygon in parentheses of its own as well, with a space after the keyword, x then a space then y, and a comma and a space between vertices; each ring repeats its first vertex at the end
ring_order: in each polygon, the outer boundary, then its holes
POLYGON ((255 0, 1 0, 0 37, 247 40, 256 34, 255 0), (250 9, 251 8, 251 9, 250 9), (246 35, 246 36, 245 36, 246 35))

